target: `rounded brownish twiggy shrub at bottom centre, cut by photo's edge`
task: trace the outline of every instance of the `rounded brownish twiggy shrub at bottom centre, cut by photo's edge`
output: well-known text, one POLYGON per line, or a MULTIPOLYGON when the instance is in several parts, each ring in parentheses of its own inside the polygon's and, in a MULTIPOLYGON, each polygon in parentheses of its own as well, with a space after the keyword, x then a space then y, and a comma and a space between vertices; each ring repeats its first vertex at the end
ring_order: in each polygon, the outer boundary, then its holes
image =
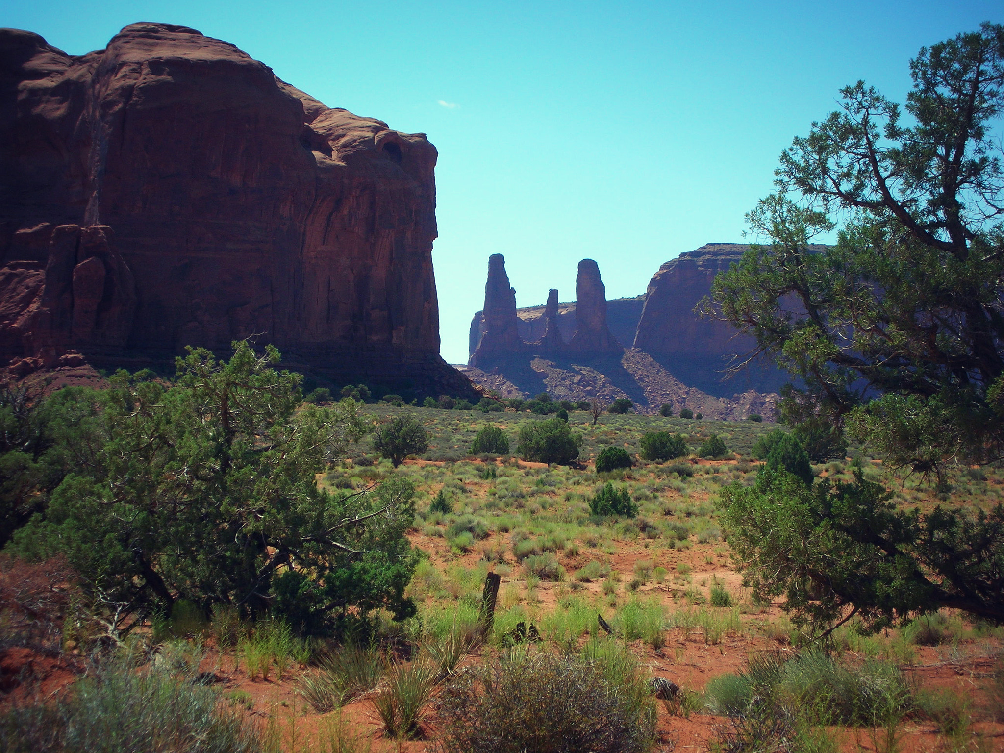
POLYGON ((631 657, 516 651, 441 696, 445 753, 641 753, 655 702, 631 657))

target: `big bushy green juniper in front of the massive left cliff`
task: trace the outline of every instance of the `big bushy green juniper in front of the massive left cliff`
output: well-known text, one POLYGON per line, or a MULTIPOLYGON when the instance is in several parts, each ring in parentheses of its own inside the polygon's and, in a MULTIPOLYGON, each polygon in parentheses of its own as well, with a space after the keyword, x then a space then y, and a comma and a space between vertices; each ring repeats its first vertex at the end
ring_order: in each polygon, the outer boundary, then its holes
POLYGON ((174 384, 119 371, 107 390, 55 393, 66 472, 9 548, 64 554, 122 615, 186 599, 310 631, 348 610, 410 613, 414 489, 318 489, 316 472, 366 426, 350 399, 301 407, 300 375, 278 361, 239 341, 229 361, 190 348, 174 384))

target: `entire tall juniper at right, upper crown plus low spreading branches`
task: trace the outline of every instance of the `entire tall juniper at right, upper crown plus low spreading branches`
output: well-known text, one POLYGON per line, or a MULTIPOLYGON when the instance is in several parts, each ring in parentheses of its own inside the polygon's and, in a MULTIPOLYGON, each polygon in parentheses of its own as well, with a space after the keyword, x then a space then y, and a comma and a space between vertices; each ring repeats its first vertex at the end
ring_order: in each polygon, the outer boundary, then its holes
POLYGON ((911 73, 906 115, 858 81, 794 140, 748 215, 769 245, 704 302, 798 378, 781 413, 801 430, 754 448, 767 468, 724 517, 755 591, 815 629, 942 606, 1004 621, 1004 507, 897 509, 860 469, 813 483, 803 446, 838 453, 847 426, 939 481, 1004 458, 1004 26, 921 49, 911 73))

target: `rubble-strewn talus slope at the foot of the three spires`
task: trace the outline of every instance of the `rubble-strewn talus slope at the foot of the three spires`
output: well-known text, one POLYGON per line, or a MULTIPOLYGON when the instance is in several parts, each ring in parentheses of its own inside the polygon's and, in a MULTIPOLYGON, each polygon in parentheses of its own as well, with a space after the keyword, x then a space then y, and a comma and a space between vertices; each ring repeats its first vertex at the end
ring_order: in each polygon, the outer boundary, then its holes
POLYGON ((543 358, 512 357, 498 360, 488 368, 468 366, 464 373, 477 385, 496 391, 503 398, 532 397, 546 392, 554 400, 588 400, 598 397, 605 403, 628 398, 635 410, 656 414, 664 404, 674 414, 689 408, 706 419, 741 421, 751 414, 773 420, 778 396, 748 390, 729 398, 715 397, 689 387, 648 353, 637 348, 620 356, 589 357, 582 362, 574 356, 543 358))

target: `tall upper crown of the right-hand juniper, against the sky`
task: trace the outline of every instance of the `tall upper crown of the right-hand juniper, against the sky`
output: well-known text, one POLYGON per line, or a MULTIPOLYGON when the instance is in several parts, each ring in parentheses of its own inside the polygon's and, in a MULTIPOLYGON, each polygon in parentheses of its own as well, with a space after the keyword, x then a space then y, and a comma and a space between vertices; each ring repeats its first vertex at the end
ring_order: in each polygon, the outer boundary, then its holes
POLYGON ((799 379, 792 423, 846 424, 941 474, 1004 457, 1004 26, 921 49, 911 74, 906 112, 858 81, 784 151, 747 216, 769 244, 705 309, 799 379))

